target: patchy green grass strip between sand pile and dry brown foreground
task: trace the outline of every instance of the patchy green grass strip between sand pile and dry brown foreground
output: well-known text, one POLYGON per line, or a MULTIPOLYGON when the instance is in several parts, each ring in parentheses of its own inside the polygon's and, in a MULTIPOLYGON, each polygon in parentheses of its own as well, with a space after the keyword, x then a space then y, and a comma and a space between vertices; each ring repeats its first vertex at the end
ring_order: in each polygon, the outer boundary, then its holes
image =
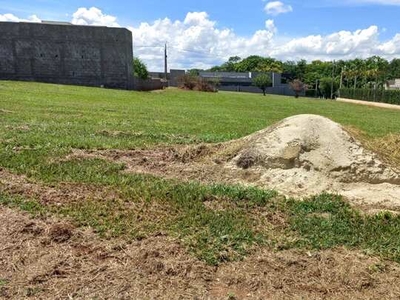
MULTIPOLYGON (((0 193, 0 204, 34 216, 68 217, 78 226, 90 226, 107 238, 138 239, 160 230, 167 231, 178 237, 196 257, 211 265, 241 259, 264 244, 275 245, 277 249, 320 250, 346 246, 400 263, 400 216, 387 212, 361 214, 338 195, 322 194, 304 201, 277 200, 274 192, 259 190, 259 195, 264 196, 258 208, 270 214, 280 213, 286 220, 284 229, 268 224, 260 230, 261 221, 254 218, 254 211, 238 205, 242 201, 255 200, 253 189, 233 187, 240 192, 224 197, 229 201, 236 197, 236 201, 231 202, 234 205, 229 206, 229 210, 215 211, 207 208, 204 201, 218 197, 229 186, 157 181, 158 186, 148 186, 150 190, 156 190, 152 198, 170 205, 167 206, 168 218, 161 222, 141 220, 138 223, 140 214, 148 211, 136 211, 127 199, 51 205, 0 193)), ((148 204, 151 205, 151 200, 148 204)))

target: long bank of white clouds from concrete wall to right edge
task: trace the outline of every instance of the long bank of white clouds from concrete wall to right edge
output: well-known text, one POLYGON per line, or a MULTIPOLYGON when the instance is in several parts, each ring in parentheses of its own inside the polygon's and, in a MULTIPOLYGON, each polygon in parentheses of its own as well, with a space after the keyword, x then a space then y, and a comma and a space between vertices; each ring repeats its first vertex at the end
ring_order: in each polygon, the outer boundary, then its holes
POLYGON ((400 33, 391 40, 379 40, 379 28, 371 25, 355 31, 338 31, 328 35, 308 35, 282 39, 273 20, 249 37, 237 35, 232 29, 221 29, 209 16, 189 13, 183 21, 156 20, 130 27, 134 54, 149 69, 163 69, 163 44, 168 41, 171 68, 209 68, 230 56, 242 58, 252 54, 281 60, 332 60, 381 55, 392 59, 400 55, 400 33), (141 48, 139 46, 159 46, 141 48))

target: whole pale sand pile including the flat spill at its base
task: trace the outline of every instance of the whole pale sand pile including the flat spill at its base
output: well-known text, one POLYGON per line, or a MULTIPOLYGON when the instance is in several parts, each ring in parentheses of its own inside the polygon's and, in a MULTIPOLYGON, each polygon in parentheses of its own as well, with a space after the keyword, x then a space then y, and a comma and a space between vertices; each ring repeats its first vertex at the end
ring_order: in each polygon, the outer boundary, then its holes
POLYGON ((367 202, 395 201, 400 206, 400 172, 327 118, 289 117, 243 141, 225 168, 261 174, 257 185, 289 196, 329 191, 367 202))

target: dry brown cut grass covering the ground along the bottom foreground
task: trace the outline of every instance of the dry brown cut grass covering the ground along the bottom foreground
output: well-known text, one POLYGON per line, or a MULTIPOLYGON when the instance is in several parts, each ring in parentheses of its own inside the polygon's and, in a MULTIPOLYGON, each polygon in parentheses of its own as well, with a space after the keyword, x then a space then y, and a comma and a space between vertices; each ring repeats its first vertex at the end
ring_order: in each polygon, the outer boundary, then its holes
POLYGON ((2 299, 398 299, 400 267, 358 251, 261 249, 207 266, 163 235, 101 240, 0 207, 2 299), (230 297, 230 298, 229 298, 230 297))

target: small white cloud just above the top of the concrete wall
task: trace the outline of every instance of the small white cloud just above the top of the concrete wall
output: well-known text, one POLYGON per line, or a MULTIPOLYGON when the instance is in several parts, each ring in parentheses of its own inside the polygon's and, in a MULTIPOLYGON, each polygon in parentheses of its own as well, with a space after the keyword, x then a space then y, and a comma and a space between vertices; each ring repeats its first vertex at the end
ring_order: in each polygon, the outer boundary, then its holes
POLYGON ((75 25, 120 27, 116 17, 103 14, 103 12, 96 7, 91 7, 89 9, 85 7, 79 8, 72 15, 71 23, 75 25))

